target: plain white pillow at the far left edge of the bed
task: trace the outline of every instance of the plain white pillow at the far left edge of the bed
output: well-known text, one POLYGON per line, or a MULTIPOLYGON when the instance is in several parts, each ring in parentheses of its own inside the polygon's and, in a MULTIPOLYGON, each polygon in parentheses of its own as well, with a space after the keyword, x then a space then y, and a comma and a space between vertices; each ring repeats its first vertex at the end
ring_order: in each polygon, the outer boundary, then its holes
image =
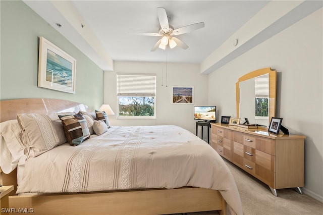
POLYGON ((19 159, 24 155, 24 146, 19 135, 21 128, 17 120, 9 120, 0 124, 0 167, 6 174, 17 168, 19 159))

